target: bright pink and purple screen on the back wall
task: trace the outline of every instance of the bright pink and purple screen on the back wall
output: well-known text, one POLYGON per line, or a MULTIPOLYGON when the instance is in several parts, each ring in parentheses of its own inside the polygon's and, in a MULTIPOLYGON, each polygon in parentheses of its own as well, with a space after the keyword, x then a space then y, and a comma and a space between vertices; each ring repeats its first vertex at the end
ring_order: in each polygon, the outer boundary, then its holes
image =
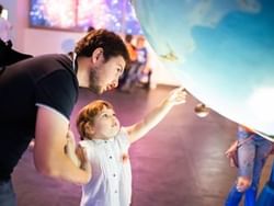
POLYGON ((31 0, 31 26, 142 34, 129 0, 31 0))

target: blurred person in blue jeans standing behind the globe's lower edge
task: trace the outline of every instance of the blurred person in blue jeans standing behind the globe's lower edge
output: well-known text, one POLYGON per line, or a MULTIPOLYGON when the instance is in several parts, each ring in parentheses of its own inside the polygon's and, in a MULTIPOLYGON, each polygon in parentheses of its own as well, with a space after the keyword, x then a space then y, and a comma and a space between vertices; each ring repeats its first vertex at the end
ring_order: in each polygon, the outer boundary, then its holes
MULTIPOLYGON (((244 206, 254 206, 261 173, 273 144, 252 129, 238 126, 238 178, 226 199, 226 206, 238 206, 243 195, 244 206)), ((226 153, 229 152, 229 149, 226 153)))

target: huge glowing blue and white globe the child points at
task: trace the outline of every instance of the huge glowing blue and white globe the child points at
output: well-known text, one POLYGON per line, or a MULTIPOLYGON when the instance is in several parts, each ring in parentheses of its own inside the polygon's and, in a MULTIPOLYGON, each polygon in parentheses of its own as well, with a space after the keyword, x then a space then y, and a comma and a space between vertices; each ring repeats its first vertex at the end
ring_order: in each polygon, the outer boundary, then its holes
POLYGON ((274 140, 274 1, 132 3, 149 44, 190 93, 274 140))

